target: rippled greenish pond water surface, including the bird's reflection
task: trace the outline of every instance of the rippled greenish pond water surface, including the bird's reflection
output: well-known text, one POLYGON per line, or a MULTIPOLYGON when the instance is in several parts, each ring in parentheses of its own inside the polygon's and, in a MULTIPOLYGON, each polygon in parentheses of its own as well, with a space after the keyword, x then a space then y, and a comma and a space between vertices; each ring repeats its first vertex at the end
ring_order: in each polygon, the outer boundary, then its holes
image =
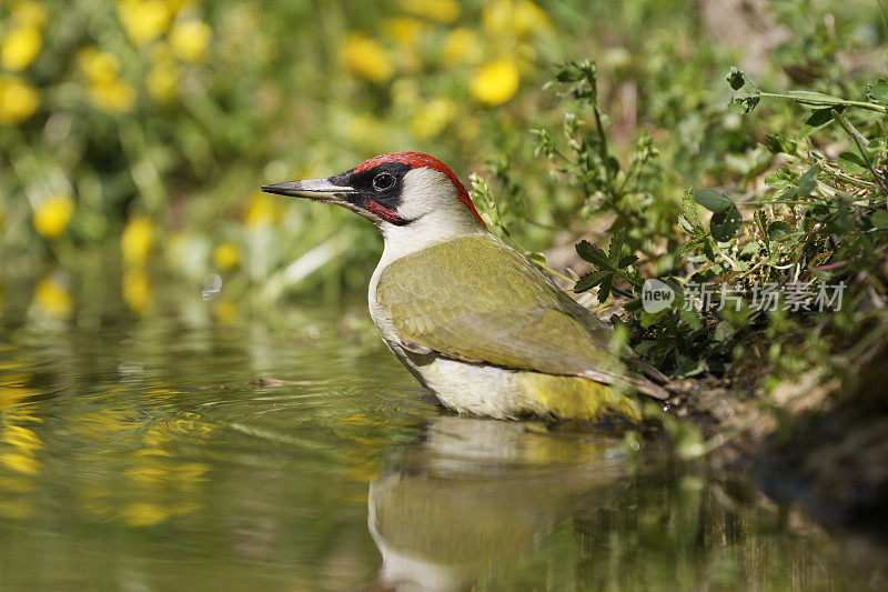
POLYGON ((361 308, 0 333, 2 590, 878 589, 884 556, 656 440, 448 414, 361 308))

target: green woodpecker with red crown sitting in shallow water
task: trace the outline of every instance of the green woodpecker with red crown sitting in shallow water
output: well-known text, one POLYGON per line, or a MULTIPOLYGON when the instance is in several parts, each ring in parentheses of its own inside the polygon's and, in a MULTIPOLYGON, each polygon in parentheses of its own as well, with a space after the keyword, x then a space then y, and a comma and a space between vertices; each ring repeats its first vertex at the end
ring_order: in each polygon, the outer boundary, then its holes
POLYGON ((634 371, 620 370, 609 327, 492 234, 441 161, 394 152, 262 190, 335 203, 373 222, 385 240, 370 280, 373 323, 445 407, 501 419, 637 420, 628 390, 667 397, 640 373, 665 377, 636 357, 625 360, 634 371))

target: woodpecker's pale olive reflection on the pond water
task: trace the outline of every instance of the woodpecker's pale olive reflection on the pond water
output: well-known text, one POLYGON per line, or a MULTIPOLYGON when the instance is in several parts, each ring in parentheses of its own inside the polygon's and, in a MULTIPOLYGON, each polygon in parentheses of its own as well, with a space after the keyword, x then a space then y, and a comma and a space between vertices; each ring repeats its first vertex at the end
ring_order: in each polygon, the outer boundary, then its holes
POLYGON ((608 504, 627 483, 610 434, 438 417, 390 450, 370 485, 369 526, 384 590, 465 590, 542 544, 554 526, 608 504))

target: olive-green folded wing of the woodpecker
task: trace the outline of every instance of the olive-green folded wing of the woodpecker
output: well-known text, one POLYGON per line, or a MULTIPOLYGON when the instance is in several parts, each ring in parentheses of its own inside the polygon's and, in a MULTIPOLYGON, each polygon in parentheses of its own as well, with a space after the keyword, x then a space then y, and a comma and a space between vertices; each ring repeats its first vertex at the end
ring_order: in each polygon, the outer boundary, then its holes
POLYGON ((492 235, 442 242, 381 274, 402 343, 445 357, 605 382, 610 330, 492 235), (446 292, 445 292, 446 291, 446 292))

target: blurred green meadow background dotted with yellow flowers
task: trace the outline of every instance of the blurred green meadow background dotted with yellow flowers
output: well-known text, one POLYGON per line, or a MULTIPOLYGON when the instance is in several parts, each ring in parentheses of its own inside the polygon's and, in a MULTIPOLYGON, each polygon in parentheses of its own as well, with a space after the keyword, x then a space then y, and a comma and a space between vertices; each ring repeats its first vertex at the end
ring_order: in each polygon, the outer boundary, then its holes
POLYGON ((687 184, 769 161, 756 120, 725 107, 730 64, 785 88, 881 71, 884 43, 864 0, 4 0, 0 19, 7 325, 162 312, 175 289, 204 290, 222 323, 244 303, 362 298, 374 230, 258 188, 383 152, 490 177, 528 249, 572 242, 595 221, 529 132, 561 126, 543 87, 568 59, 598 62, 617 144, 653 138, 650 207, 672 217, 687 184))

